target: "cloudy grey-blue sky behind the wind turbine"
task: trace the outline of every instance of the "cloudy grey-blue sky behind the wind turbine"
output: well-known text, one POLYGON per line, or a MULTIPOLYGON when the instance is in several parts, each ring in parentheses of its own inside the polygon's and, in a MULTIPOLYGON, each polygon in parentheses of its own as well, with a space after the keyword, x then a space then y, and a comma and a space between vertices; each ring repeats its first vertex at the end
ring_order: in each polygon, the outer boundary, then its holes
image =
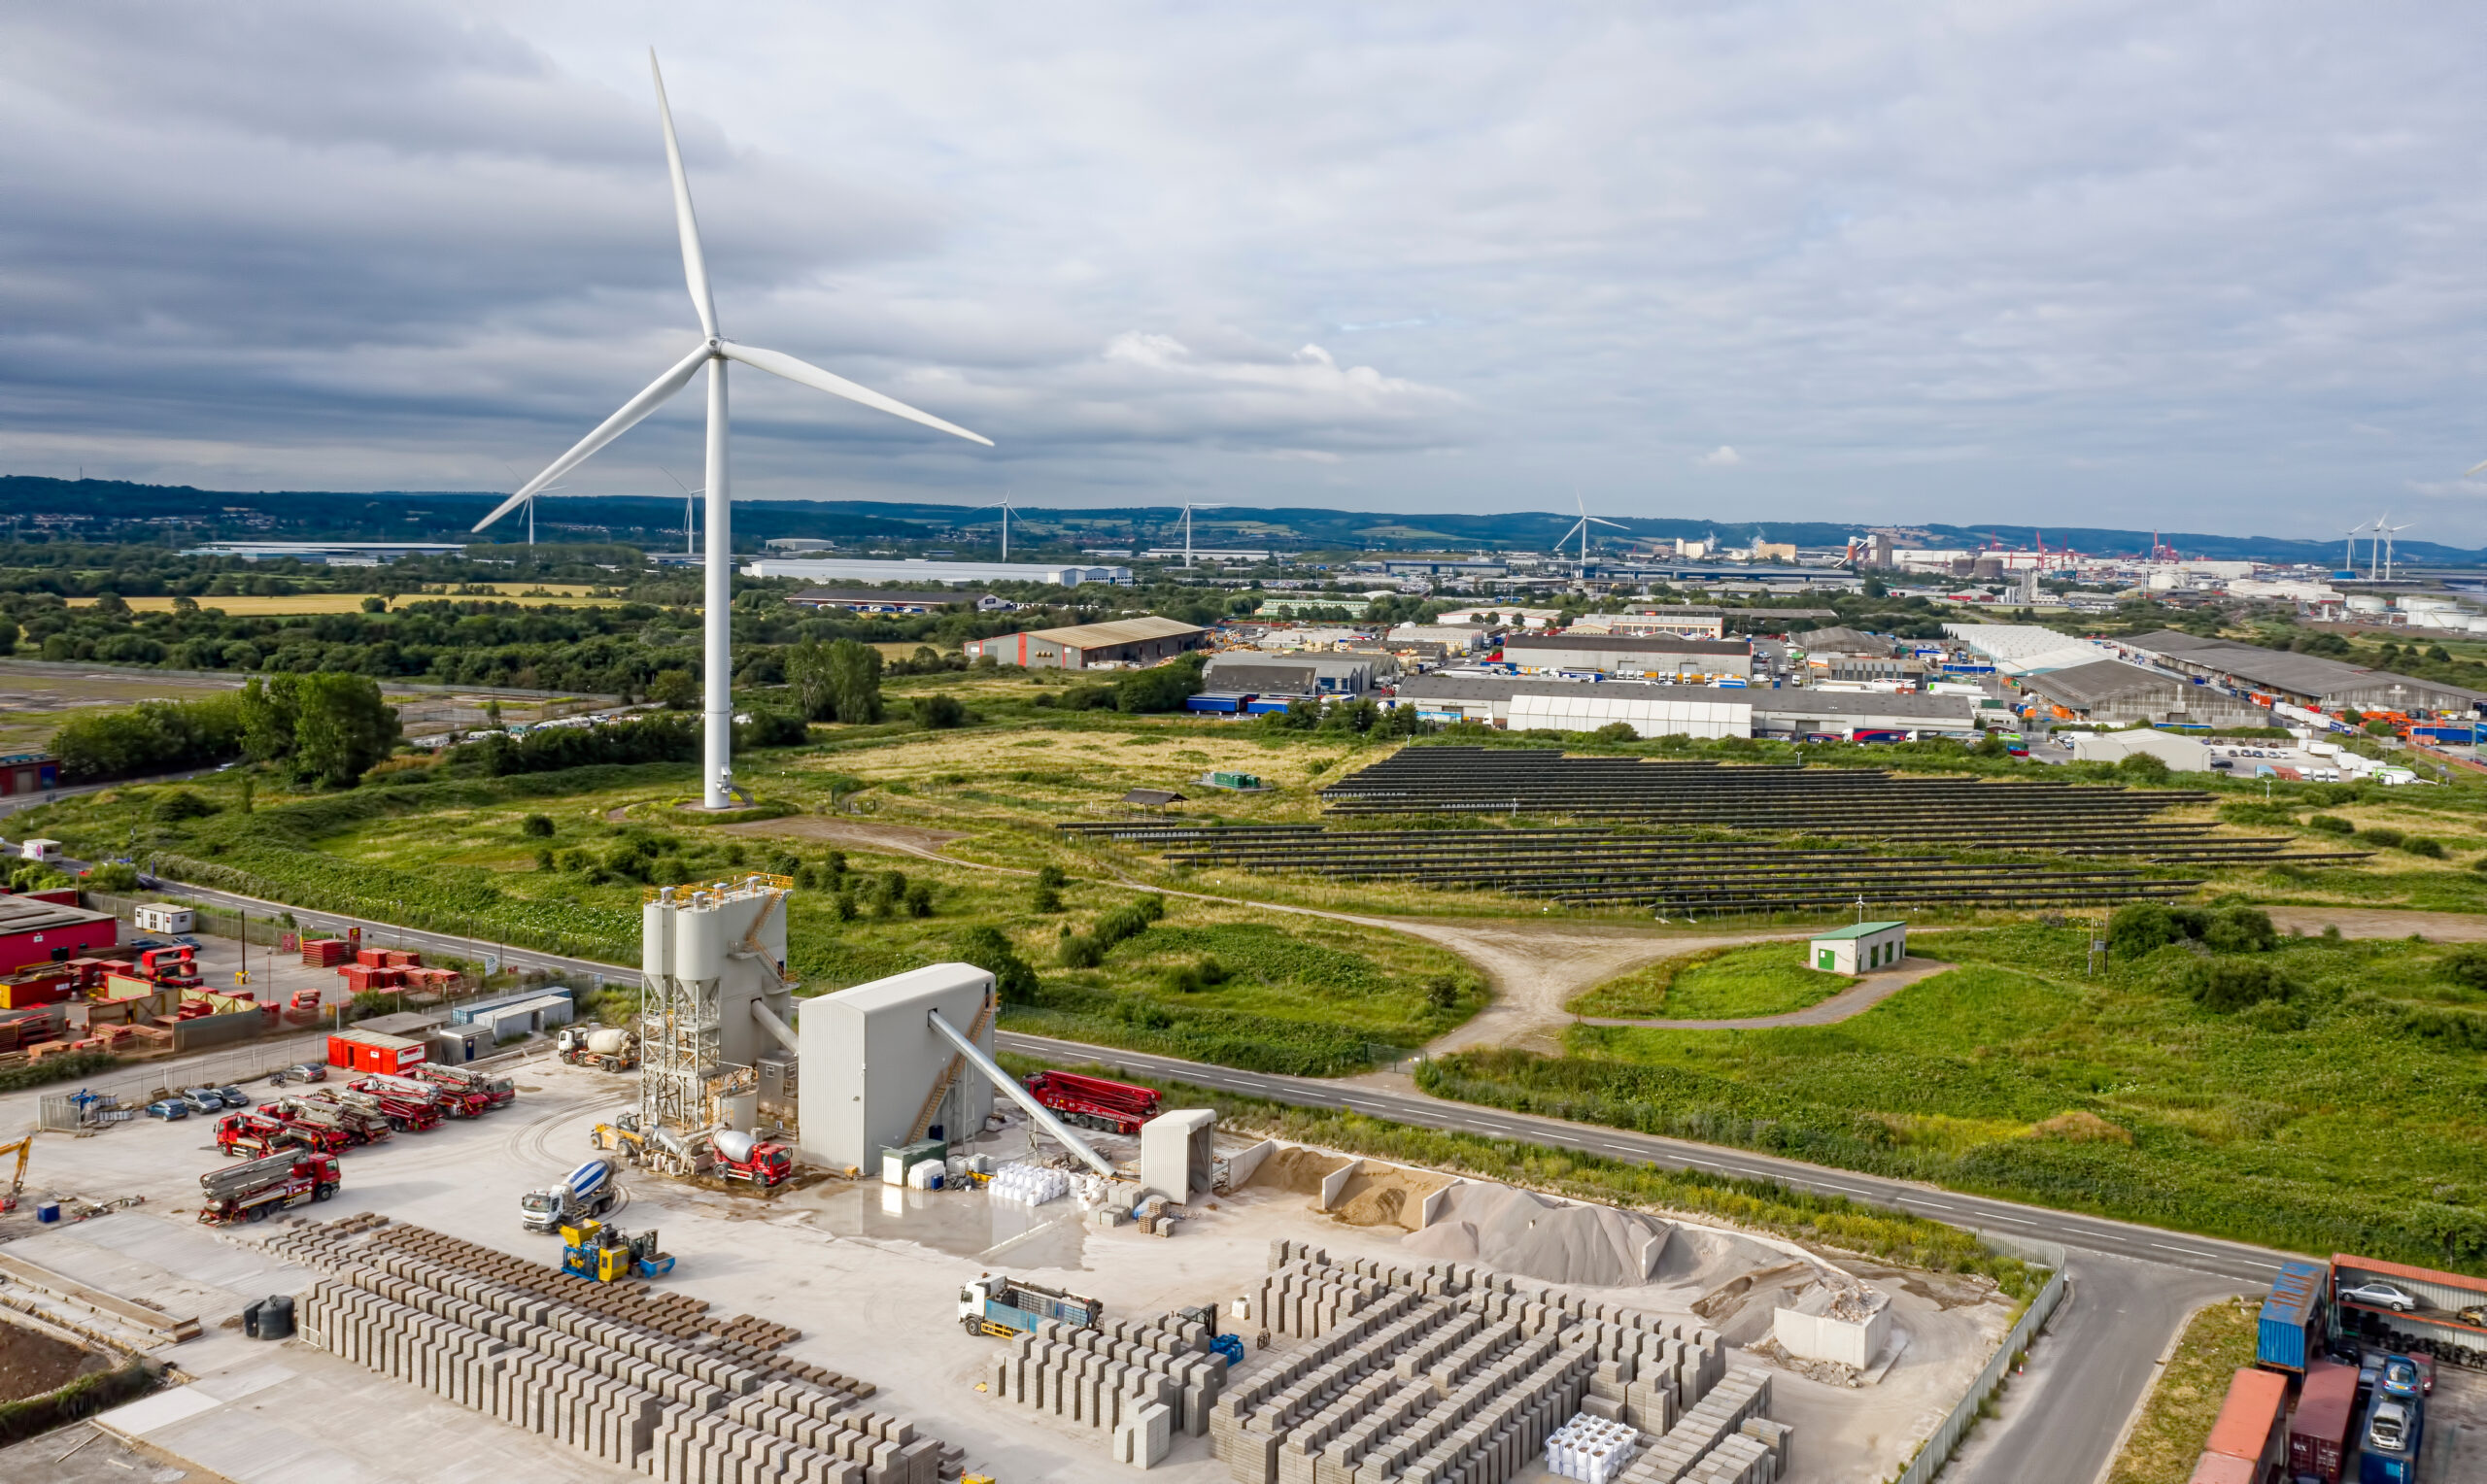
POLYGON ((535 472, 696 343, 649 45, 724 333, 1000 445, 739 370, 739 495, 2487 542, 2440 2, 17 5, 0 470, 535 472))

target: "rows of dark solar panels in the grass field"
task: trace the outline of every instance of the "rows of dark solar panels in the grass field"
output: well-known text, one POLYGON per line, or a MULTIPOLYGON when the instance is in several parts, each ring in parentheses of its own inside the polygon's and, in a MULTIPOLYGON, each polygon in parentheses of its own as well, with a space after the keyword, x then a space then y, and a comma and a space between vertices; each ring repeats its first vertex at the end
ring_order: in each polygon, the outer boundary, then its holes
POLYGON ((2363 860, 2291 838, 2159 820, 2199 790, 1895 778, 1865 768, 1641 763, 1517 748, 1403 748, 1321 790, 1333 815, 1589 818, 1559 828, 1064 825, 1154 845, 1191 868, 1291 870, 1495 890, 1659 917, 1903 907, 2087 907, 2184 897, 2201 880, 2131 868, 1960 860, 2027 850, 2233 868, 2363 860), (1741 838, 1706 838, 1733 830, 1741 838), (1753 835, 1793 835, 1786 840, 1753 835), (1845 845, 1840 840, 1860 840, 1845 845), (1863 843, 1870 843, 1863 845, 1863 843))

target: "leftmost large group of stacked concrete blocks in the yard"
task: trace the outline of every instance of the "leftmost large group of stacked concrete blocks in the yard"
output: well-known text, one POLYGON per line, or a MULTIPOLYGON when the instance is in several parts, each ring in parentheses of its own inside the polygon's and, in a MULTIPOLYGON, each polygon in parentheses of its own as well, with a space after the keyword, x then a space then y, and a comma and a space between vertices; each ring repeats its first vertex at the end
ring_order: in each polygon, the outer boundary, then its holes
MULTIPOLYGON (((768 1345, 796 1335, 783 1325, 701 1327, 686 1320, 696 1300, 545 1283, 545 1268, 423 1228, 388 1235, 381 1248, 301 1225, 269 1243, 326 1273, 296 1310, 306 1340, 667 1484, 940 1484, 960 1472, 957 1449, 858 1409, 868 1382, 773 1357, 768 1345)), ((1209 1370, 1199 1355, 1147 1355, 1209 1370)), ((1174 1377, 1159 1382, 1181 1397, 1174 1377)))

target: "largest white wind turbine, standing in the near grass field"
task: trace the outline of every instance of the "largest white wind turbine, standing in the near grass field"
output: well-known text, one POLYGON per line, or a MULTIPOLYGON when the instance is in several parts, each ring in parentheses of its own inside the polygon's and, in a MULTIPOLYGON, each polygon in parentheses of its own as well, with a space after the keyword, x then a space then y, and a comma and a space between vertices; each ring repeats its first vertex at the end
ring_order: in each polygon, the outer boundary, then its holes
POLYGON ((671 370, 659 375, 637 398, 622 403, 622 410, 597 425, 594 433, 572 445, 570 452, 552 460, 542 475, 527 480, 517 495, 510 495, 492 515, 475 522, 482 529, 510 515, 547 485, 587 462, 599 447, 629 433, 642 418, 654 413, 679 393, 691 385, 691 378, 701 370, 709 373, 709 477, 701 492, 709 500, 709 554, 704 562, 706 577, 706 604, 701 611, 704 631, 704 656, 701 656, 701 721, 706 731, 704 768, 701 768, 701 805, 726 808, 734 800, 734 500, 726 485, 726 363, 741 360, 754 370, 766 370, 768 375, 783 375, 786 380, 803 383, 813 390, 846 398, 851 403, 863 403, 865 408, 880 408, 895 418, 908 418, 910 423, 923 423, 925 428, 940 428, 955 437, 970 442, 982 442, 992 447, 990 437, 967 433, 955 423, 943 423, 930 413, 918 413, 915 408, 885 398, 870 388, 856 385, 843 375, 831 375, 808 360, 796 360, 781 350, 761 350, 759 346, 736 346, 716 331, 716 298, 709 293, 709 263, 706 254, 699 249, 699 221, 691 219, 691 181, 681 174, 681 144, 674 139, 674 109, 664 102, 664 72, 657 70, 657 52, 649 50, 647 70, 657 82, 657 117, 664 122, 664 164, 674 176, 674 226, 681 231, 681 276, 691 288, 691 308, 699 311, 699 346, 689 355, 674 363, 671 370))

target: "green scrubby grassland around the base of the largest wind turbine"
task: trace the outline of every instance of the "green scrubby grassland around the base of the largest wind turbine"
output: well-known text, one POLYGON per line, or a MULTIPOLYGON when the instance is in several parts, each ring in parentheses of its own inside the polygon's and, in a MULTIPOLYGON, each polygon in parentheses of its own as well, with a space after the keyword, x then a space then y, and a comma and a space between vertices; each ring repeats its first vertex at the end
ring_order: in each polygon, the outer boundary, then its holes
MULTIPOLYGON (((948 738, 948 733, 940 733, 948 738)), ((890 748, 903 753, 903 748, 890 748)), ((768 795, 826 808, 858 783, 803 751, 756 753, 768 795), (843 781, 838 781, 843 778, 843 781)), ((788 969, 806 994, 843 989, 953 960, 960 937, 992 927, 1040 972, 1032 1002, 1005 1024, 1107 1047, 1224 1061, 1261 1071, 1336 1076, 1390 1061, 1457 1027, 1485 1004, 1485 979, 1447 950, 1345 922, 1281 917, 1166 897, 1166 917, 1117 945, 1099 967, 1057 964, 1062 935, 1144 895, 1102 880, 1047 823, 990 818, 985 805, 938 815, 977 860, 933 860, 900 845, 920 838, 910 805, 962 793, 943 771, 885 778, 890 808, 868 815, 788 813, 778 820, 706 825, 671 803, 694 768, 644 763, 515 778, 443 778, 323 795, 259 795, 241 805, 239 773, 177 788, 119 788, 45 810, 42 828, 72 848, 119 853, 137 843, 172 875, 291 902, 306 917, 353 912, 634 964, 639 902, 649 882, 716 880, 768 870, 806 885, 788 905, 788 969), (191 793, 216 808, 167 823, 164 798, 191 793), (542 815, 550 835, 527 835, 542 815), (614 818, 619 815, 619 818, 614 818), (883 835, 873 835, 883 830, 883 835), (80 843, 82 840, 82 843, 80 843), (851 915, 826 877, 843 853, 851 915), (552 855, 552 868, 540 865, 552 855), (1057 865, 1069 877, 1059 907, 1040 912, 1020 868, 1057 865), (893 897, 928 887, 925 915, 893 897), (1219 982, 1199 967, 1216 960, 1219 982), (1179 969, 1191 969, 1181 974, 1179 969)))

